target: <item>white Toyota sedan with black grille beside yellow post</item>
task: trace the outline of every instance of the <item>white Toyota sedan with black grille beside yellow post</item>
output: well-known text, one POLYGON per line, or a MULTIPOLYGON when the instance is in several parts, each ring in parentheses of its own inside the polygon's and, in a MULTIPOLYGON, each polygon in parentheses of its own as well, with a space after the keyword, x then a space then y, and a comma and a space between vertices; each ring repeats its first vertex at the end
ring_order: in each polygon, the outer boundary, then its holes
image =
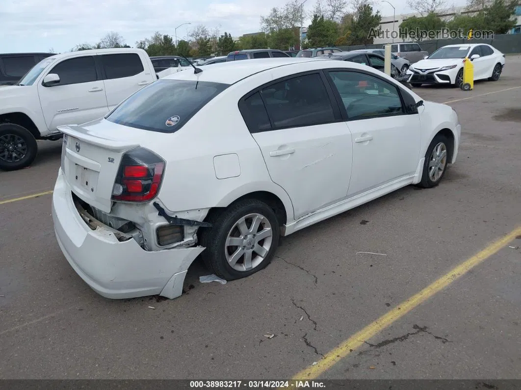
POLYGON ((498 81, 505 66, 505 55, 491 45, 447 45, 412 65, 407 72, 408 80, 413 86, 447 84, 460 87, 465 58, 473 62, 474 80, 498 81))

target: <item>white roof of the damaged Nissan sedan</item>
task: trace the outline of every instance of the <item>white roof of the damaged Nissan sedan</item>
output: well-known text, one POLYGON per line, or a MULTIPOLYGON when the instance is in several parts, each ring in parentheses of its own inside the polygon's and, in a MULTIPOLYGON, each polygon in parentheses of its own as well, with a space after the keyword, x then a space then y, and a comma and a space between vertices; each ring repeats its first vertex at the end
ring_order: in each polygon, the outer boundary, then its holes
POLYGON ((316 69, 324 68, 351 68, 351 69, 367 69, 367 65, 356 64, 348 61, 324 61, 327 57, 314 58, 263 58, 252 59, 248 61, 228 61, 215 64, 206 68, 203 72, 195 74, 192 70, 183 70, 181 72, 172 73, 160 80, 193 80, 208 81, 224 84, 234 84, 242 79, 253 76, 256 73, 268 71, 270 69, 291 66, 295 67, 295 73, 299 72, 299 65, 304 62, 316 62, 316 69))

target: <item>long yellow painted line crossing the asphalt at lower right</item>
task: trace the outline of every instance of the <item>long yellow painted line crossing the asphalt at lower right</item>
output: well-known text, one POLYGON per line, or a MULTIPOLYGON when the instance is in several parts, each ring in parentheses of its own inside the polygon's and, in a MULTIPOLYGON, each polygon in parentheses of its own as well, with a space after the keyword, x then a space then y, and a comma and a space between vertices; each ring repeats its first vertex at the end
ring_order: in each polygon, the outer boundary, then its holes
POLYGON ((440 292, 443 288, 460 278, 460 276, 476 267, 483 260, 497 253, 501 248, 510 243, 512 240, 514 240, 514 238, 516 238, 516 236, 519 235, 521 235, 521 227, 493 242, 473 257, 465 260, 456 268, 452 269, 449 273, 441 276, 441 278, 425 287, 419 293, 406 299, 394 309, 383 314, 383 316, 381 316, 379 319, 373 323, 370 323, 364 329, 346 339, 338 347, 329 351, 326 355, 324 355, 324 358, 316 362, 314 366, 309 366, 301 372, 297 373, 293 377, 293 380, 313 380, 318 378, 320 374, 324 373, 326 370, 333 367, 334 364, 338 363, 342 358, 348 356, 355 349, 362 346, 365 341, 369 340, 371 337, 374 337, 379 332, 386 329, 389 325, 419 306, 425 300, 440 292))

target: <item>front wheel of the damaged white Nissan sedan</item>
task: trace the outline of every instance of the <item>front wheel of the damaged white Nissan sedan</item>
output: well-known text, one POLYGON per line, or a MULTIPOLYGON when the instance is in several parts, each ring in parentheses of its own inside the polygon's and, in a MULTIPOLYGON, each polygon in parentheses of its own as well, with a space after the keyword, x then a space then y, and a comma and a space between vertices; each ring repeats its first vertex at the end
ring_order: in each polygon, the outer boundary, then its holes
POLYGON ((419 187, 432 188, 436 187, 440 183, 441 179, 443 179, 443 176, 445 175, 447 166, 449 165, 449 147, 449 140, 442 134, 438 134, 432 139, 427 148, 427 152, 425 153, 421 182, 417 184, 419 187), (444 157, 442 156, 439 158, 437 155, 443 154, 443 152, 444 157), (436 165, 430 167, 431 161, 436 165), (433 169, 431 170, 431 168, 433 169))

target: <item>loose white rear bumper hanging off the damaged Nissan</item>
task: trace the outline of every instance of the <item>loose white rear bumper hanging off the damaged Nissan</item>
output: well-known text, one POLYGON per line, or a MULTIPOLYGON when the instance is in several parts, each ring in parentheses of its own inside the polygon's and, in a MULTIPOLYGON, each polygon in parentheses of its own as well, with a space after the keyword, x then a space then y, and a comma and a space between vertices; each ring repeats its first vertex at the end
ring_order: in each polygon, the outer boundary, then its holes
POLYGON ((58 244, 71 267, 106 298, 181 295, 184 276, 204 247, 146 251, 134 240, 118 241, 109 229, 92 230, 80 217, 61 168, 52 215, 58 244))

